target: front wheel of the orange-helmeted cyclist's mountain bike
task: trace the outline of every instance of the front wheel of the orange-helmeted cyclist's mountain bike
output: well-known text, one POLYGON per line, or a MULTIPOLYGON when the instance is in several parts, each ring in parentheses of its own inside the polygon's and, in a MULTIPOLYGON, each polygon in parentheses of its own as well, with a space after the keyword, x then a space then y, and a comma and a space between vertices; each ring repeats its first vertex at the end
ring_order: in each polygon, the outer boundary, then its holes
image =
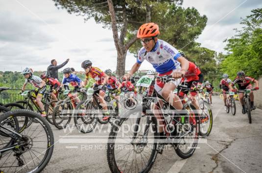
POLYGON ((142 107, 117 118, 107 144, 107 161, 112 173, 147 173, 157 155, 157 120, 142 116, 142 107), (126 130, 126 128, 129 129, 126 130))

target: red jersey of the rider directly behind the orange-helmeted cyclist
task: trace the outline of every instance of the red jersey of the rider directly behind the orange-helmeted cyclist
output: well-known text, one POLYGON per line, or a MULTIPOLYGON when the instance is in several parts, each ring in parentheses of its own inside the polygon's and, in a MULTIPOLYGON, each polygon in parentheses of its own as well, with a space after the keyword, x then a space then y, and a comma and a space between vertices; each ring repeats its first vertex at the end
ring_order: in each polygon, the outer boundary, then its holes
POLYGON ((197 81, 199 79, 199 74, 201 74, 199 68, 193 62, 189 61, 189 68, 182 78, 181 82, 184 82, 185 80, 187 82, 197 81))

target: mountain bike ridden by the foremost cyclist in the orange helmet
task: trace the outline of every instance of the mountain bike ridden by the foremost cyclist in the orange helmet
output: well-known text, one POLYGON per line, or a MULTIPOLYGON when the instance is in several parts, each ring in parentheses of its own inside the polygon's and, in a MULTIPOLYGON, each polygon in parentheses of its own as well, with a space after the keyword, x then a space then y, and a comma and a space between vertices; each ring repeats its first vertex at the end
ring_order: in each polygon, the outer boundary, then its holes
POLYGON ((157 154, 162 154, 167 144, 171 144, 181 158, 188 158, 195 151, 199 120, 194 107, 186 103, 184 114, 177 114, 177 110, 154 89, 156 78, 162 81, 171 79, 170 76, 148 79, 149 91, 143 96, 143 105, 121 114, 111 127, 107 161, 113 173, 149 172, 157 154), (163 120, 164 136, 159 136, 158 122, 151 112, 155 104, 163 120))

